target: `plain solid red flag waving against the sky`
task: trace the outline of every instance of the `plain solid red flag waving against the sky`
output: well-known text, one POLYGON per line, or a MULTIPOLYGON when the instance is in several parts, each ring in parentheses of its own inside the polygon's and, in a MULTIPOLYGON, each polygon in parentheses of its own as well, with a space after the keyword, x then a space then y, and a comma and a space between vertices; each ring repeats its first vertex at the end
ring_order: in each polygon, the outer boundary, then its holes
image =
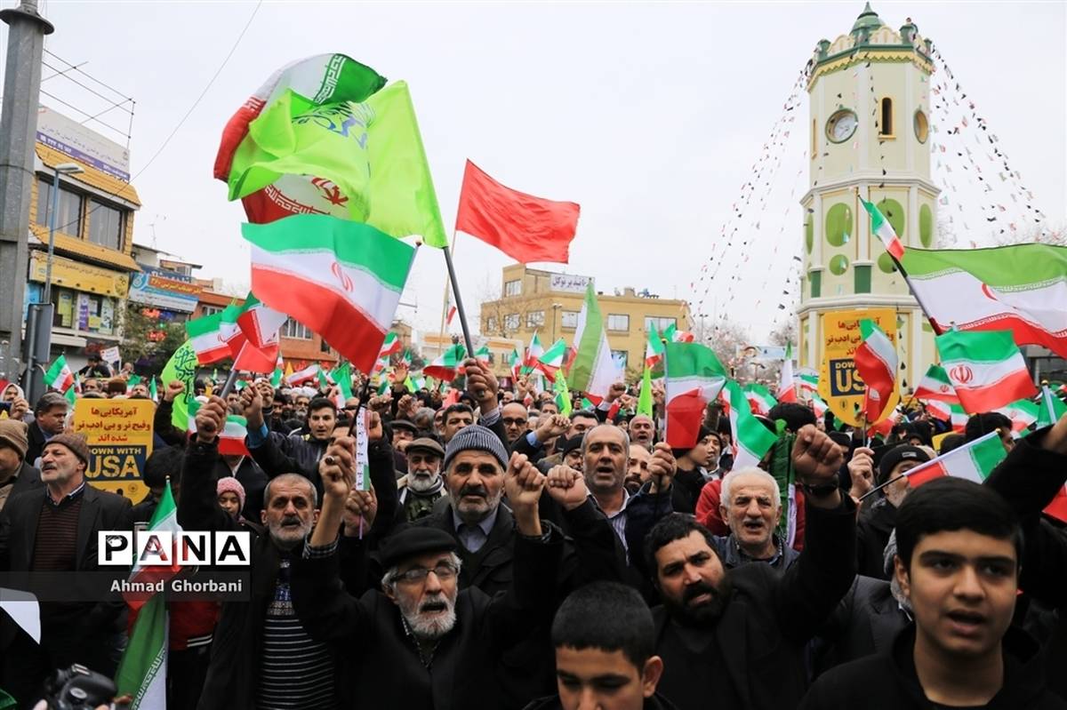
POLYGON ((456 229, 522 263, 567 263, 579 210, 576 203, 557 203, 507 188, 468 160, 456 229))

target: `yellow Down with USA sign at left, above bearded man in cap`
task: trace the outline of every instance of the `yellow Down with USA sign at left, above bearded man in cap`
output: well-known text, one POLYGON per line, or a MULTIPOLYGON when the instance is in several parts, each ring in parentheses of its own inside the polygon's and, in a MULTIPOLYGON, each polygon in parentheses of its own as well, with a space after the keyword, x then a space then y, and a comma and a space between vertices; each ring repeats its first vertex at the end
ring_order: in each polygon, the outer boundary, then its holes
POLYGON ((148 400, 80 399, 75 403, 74 429, 85 435, 93 452, 85 471, 92 486, 134 503, 148 495, 142 477, 152 453, 155 414, 156 407, 148 400))

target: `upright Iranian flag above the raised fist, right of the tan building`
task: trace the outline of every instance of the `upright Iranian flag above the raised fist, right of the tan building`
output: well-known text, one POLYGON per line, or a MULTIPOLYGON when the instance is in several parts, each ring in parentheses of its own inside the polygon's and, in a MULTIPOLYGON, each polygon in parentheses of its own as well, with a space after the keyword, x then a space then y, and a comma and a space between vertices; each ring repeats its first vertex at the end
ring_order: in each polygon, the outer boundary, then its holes
POLYGON ((714 402, 726 385, 727 371, 712 349, 700 343, 669 342, 664 348, 664 357, 665 438, 672 449, 691 449, 697 445, 707 403, 714 402))

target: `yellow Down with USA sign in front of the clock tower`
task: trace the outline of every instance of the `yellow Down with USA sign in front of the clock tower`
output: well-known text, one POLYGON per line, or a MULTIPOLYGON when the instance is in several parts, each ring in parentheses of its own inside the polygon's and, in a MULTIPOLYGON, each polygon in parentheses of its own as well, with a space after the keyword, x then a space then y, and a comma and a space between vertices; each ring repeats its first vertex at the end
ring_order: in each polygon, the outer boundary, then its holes
MULTIPOLYGON (((818 393, 833 415, 853 426, 860 426, 857 414, 863 406, 863 380, 856 371, 856 349, 863 342, 860 321, 871 319, 896 344, 896 311, 892 308, 857 308, 822 313, 824 336, 823 362, 819 367, 818 393)), ((901 401, 894 389, 883 412, 891 413, 901 401)), ((867 422, 874 424, 875 422, 867 422)))

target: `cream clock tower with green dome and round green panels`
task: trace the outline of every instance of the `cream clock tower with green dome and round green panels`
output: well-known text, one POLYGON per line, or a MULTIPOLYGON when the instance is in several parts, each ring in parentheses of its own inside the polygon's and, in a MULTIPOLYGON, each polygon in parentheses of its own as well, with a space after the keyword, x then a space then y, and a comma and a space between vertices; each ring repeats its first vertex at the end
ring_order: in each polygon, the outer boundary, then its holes
MULTIPOLYGON (((803 275, 799 365, 824 364, 824 317, 895 312, 903 378, 914 386, 936 361, 934 334, 877 237, 860 197, 874 203, 906 247, 936 240, 939 190, 930 180, 930 47, 910 18, 894 30, 867 4, 853 29, 819 42, 809 64, 810 190, 801 198, 803 275)), ((902 388, 902 391, 906 391, 902 388)))

